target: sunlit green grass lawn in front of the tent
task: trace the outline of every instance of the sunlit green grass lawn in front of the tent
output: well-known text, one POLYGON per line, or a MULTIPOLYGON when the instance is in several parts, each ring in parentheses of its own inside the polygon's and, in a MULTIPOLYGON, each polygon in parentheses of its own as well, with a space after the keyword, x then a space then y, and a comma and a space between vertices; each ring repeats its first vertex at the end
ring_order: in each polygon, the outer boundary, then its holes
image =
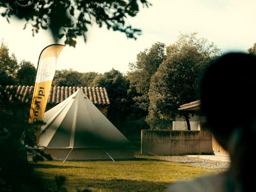
POLYGON ((43 178, 44 186, 51 190, 56 190, 55 176, 65 176, 64 187, 69 192, 85 188, 93 192, 163 191, 170 182, 217 172, 156 157, 151 161, 147 158, 150 157, 137 154, 134 160, 126 161, 44 161, 32 163, 32 166, 36 175, 43 178))

